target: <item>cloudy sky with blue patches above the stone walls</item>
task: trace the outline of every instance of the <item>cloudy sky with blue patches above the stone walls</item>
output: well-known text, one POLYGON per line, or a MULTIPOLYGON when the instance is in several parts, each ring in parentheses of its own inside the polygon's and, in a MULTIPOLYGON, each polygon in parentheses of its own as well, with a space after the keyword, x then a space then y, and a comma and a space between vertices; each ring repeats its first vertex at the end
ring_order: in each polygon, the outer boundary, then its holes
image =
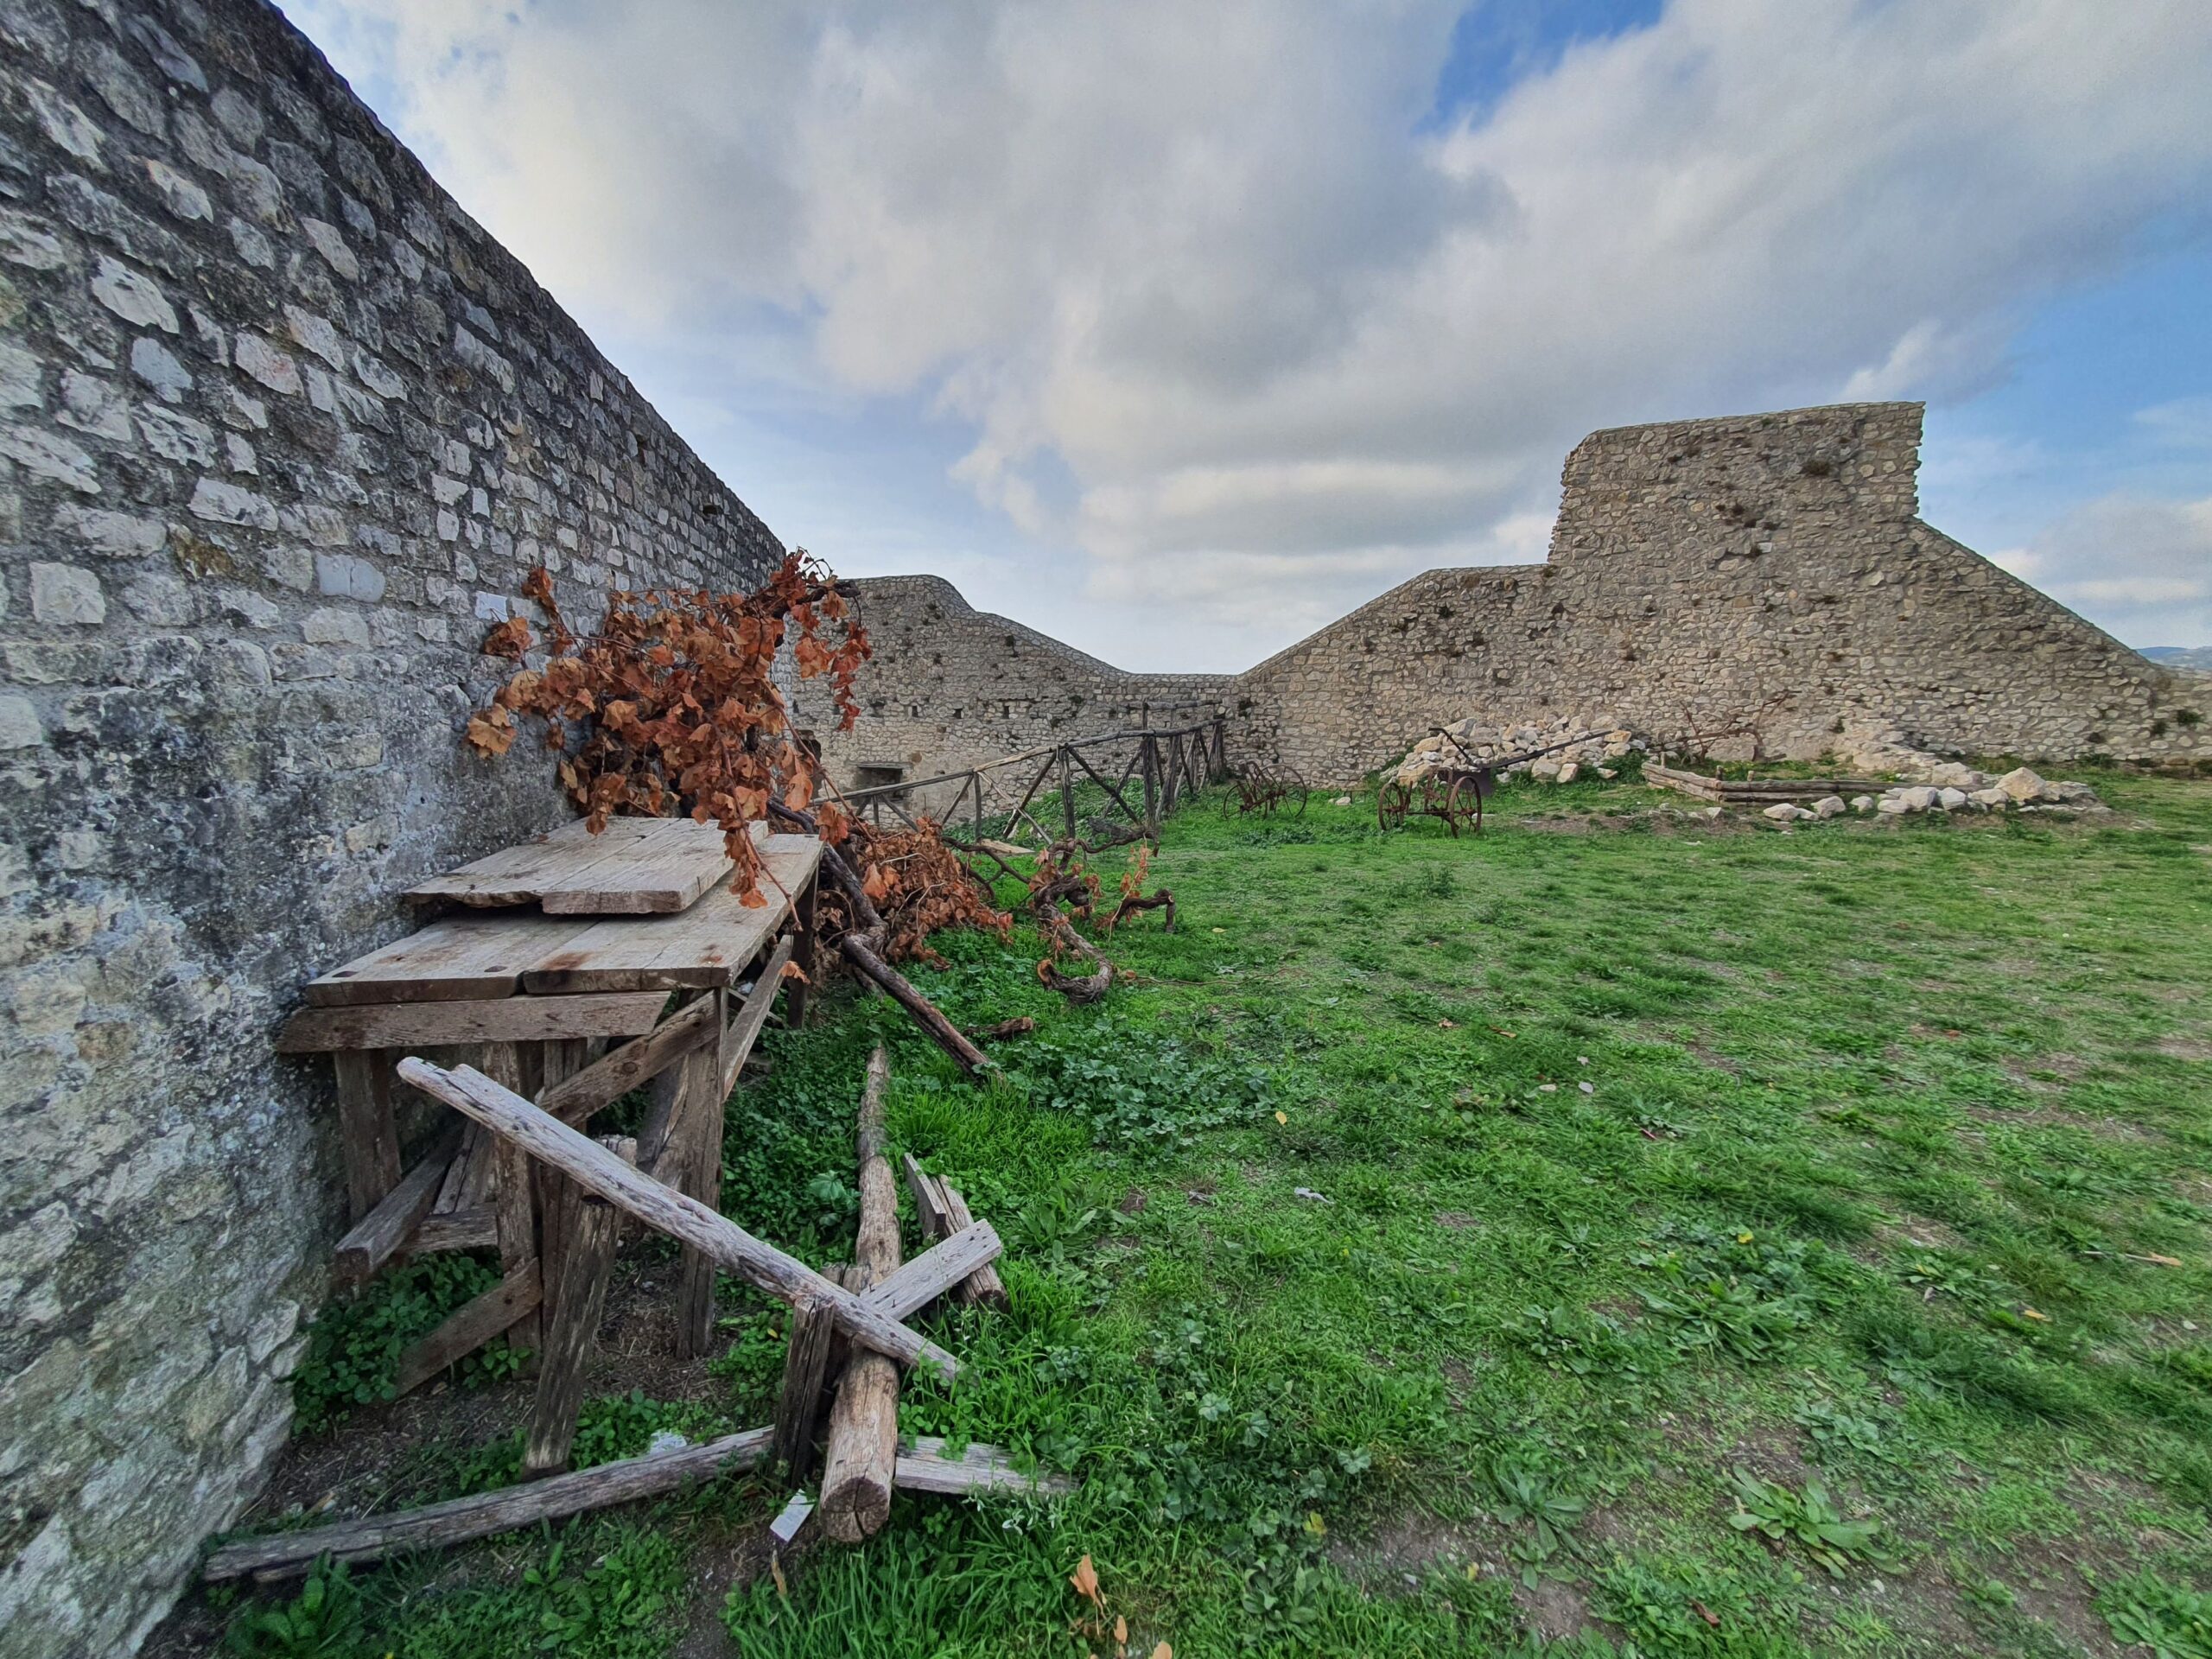
POLYGON ((783 535, 1130 668, 1542 557, 1595 427, 1924 398, 2212 644, 2205 0, 283 0, 783 535))

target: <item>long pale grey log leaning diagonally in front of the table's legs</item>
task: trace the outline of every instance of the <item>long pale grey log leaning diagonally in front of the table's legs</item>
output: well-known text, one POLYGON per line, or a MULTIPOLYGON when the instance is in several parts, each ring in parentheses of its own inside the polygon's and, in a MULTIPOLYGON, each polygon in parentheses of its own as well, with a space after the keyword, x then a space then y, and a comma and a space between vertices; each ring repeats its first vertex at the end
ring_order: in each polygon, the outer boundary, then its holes
POLYGON ((425 1095, 442 1099, 465 1117, 476 1119, 502 1139, 513 1139, 531 1157, 557 1164, 564 1172, 608 1203, 635 1214, 650 1228, 684 1243, 695 1243, 714 1261, 745 1283, 765 1290, 785 1303, 801 1294, 830 1301, 841 1332, 863 1347, 889 1354, 905 1365, 929 1360, 945 1376, 958 1376, 960 1363, 936 1343, 909 1332, 894 1318, 885 1318, 874 1307, 843 1285, 832 1285, 805 1263, 794 1261, 770 1243, 754 1239, 728 1217, 714 1214, 697 1199, 675 1192, 641 1170, 633 1170, 604 1146, 593 1144, 557 1117, 549 1117, 531 1102, 500 1088, 469 1066, 445 1071, 427 1060, 407 1057, 398 1066, 400 1077, 425 1095))

